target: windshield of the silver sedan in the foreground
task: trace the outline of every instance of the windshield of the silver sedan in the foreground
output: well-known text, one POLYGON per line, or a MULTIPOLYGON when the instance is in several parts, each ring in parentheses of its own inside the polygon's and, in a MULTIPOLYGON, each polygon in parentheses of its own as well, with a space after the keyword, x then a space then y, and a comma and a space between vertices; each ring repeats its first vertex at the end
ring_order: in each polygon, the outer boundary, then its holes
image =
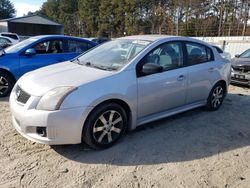
POLYGON ((144 40, 113 40, 84 53, 77 58, 77 63, 103 70, 119 70, 149 43, 144 40))

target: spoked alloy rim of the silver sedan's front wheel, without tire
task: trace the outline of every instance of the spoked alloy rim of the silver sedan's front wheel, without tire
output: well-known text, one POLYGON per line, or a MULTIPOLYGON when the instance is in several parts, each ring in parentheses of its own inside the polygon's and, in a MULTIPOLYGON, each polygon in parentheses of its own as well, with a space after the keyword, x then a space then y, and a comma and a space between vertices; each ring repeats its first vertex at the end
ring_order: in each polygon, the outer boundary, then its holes
POLYGON ((93 126, 93 137, 99 144, 106 145, 115 142, 123 130, 123 118, 115 110, 102 113, 93 126))

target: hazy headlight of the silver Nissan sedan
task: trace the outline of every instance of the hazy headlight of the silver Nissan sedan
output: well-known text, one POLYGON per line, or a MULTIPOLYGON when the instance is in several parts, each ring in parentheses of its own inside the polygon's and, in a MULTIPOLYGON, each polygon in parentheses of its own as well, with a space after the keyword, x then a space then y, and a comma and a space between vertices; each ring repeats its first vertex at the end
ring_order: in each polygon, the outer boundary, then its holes
POLYGON ((47 92, 39 101, 37 110, 59 110, 64 99, 73 91, 76 87, 58 87, 47 92))

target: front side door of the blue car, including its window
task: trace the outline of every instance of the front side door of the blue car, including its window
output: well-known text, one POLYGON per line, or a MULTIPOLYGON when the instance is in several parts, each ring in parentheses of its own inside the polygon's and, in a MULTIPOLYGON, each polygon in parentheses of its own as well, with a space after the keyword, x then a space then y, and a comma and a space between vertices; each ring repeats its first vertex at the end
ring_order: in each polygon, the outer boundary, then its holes
POLYGON ((69 59, 65 53, 65 42, 62 39, 43 40, 31 48, 35 49, 36 54, 25 55, 25 52, 20 54, 21 75, 69 59))

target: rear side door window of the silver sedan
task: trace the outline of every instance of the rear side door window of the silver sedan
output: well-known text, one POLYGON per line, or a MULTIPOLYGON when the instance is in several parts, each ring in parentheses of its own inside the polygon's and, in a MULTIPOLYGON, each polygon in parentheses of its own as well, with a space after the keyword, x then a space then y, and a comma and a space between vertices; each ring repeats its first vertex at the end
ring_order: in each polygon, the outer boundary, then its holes
POLYGON ((212 50, 205 45, 187 42, 186 49, 188 65, 196 65, 214 60, 212 50))

